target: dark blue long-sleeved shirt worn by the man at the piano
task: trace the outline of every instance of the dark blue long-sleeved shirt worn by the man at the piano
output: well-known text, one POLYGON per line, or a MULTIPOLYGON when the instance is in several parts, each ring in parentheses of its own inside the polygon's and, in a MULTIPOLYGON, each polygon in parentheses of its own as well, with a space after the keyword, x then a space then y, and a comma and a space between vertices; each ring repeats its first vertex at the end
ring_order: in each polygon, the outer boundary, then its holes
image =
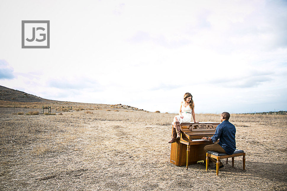
POLYGON ((217 125, 215 134, 211 137, 211 139, 213 142, 215 142, 219 138, 218 144, 227 154, 233 154, 236 149, 235 133, 235 126, 228 120, 224 120, 222 123, 217 125))

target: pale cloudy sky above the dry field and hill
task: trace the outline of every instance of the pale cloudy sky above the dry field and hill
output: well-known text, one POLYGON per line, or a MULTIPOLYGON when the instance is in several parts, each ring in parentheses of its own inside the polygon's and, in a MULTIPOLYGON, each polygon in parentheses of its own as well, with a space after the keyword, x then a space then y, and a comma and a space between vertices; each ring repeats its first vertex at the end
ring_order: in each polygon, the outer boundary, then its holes
POLYGON ((178 113, 186 92, 195 113, 287 110, 286 23, 286 0, 3 0, 0 85, 151 112, 178 113), (50 48, 22 48, 22 20, 49 20, 50 48))

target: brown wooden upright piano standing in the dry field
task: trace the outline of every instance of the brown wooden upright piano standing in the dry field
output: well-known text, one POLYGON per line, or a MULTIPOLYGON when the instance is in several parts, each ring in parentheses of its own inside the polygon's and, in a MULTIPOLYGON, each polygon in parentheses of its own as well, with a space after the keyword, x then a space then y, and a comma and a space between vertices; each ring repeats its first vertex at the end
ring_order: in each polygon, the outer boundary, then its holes
POLYGON ((171 143, 170 163, 176 166, 186 165, 187 170, 188 165, 205 160, 204 146, 214 143, 201 138, 213 136, 219 124, 215 122, 181 123, 180 139, 177 139, 175 143, 171 143))

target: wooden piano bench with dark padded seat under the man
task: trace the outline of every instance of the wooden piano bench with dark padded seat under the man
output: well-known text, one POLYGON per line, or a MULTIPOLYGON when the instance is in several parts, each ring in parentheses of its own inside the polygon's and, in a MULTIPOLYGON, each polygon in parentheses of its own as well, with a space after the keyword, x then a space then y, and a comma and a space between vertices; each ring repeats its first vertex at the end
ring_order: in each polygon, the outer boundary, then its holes
POLYGON ((236 156, 242 156, 243 161, 243 170, 245 170, 245 152, 243 150, 236 149, 233 154, 226 154, 226 153, 217 153, 214 151, 208 151, 206 153, 206 171, 208 170, 208 163, 209 158, 211 157, 213 159, 216 159, 216 176, 218 176, 218 169, 219 169, 219 160, 220 159, 226 159, 226 164, 228 163, 228 158, 232 158, 232 167, 234 167, 234 157, 236 156))

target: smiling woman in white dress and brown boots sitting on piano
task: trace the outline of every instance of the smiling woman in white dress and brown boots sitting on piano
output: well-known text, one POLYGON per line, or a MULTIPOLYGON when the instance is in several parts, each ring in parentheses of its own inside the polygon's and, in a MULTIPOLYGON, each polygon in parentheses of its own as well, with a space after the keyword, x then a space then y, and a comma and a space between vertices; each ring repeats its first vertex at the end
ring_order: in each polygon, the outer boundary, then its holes
POLYGON ((172 138, 169 143, 174 143, 177 138, 180 138, 180 123, 191 123, 191 116, 194 123, 198 123, 195 120, 194 102, 190 93, 184 94, 178 114, 179 115, 175 116, 173 119, 172 138))

